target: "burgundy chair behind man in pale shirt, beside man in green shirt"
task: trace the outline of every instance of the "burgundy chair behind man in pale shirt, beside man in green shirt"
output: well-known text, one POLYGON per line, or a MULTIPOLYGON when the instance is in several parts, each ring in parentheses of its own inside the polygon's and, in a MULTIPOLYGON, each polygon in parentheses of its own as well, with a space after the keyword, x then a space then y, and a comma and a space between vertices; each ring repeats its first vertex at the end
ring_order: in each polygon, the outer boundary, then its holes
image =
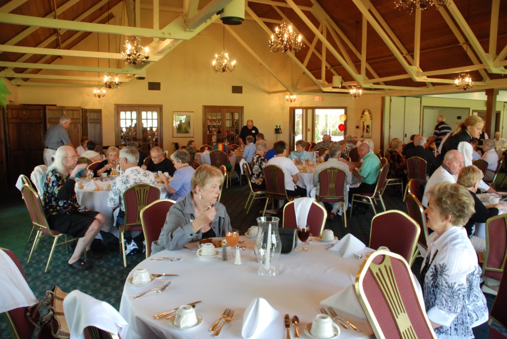
POLYGON ((347 228, 347 199, 343 195, 347 174, 338 167, 324 168, 318 173, 319 194, 315 195, 317 202, 342 203, 342 216, 347 228))

